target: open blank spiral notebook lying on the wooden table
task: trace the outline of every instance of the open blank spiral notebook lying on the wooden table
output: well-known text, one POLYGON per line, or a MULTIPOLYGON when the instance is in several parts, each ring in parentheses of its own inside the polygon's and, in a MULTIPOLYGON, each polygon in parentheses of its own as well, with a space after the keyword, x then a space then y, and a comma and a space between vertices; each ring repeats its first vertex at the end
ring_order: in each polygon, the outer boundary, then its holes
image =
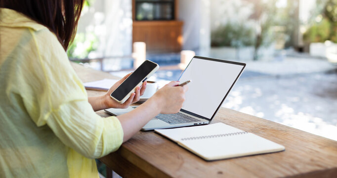
POLYGON ((285 150, 280 144, 223 123, 156 129, 155 132, 207 161, 285 150))

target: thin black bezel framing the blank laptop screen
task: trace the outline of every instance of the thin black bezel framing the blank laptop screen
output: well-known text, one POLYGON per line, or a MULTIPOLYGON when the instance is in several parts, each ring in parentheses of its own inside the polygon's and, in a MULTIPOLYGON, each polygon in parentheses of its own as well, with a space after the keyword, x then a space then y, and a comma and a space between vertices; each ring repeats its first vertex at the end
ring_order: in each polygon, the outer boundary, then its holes
POLYGON ((223 97, 222 101, 220 102, 219 106, 216 108, 215 112, 213 113, 212 117, 209 119, 209 118, 206 118, 204 116, 200 116, 198 114, 195 114, 193 112, 190 112, 190 111, 187 111, 185 109, 180 109, 181 112, 183 113, 186 113, 186 114, 189 114, 189 115, 192 115, 192 116, 195 116, 195 117, 198 117, 198 118, 201 118, 201 119, 205 119, 205 120, 208 120, 211 122, 211 120, 214 118, 214 116, 216 115, 217 111, 220 109, 223 101, 226 99, 229 91, 233 88, 234 84, 237 82, 237 80, 239 79, 239 77, 241 76, 242 72, 244 71, 245 67, 246 67, 246 64, 245 63, 241 63, 241 62, 234 62, 234 61, 227 61, 227 60, 222 60, 222 59, 215 59, 215 58, 209 58, 209 57, 201 57, 201 56, 194 56, 192 58, 192 60, 190 61, 190 63, 186 66, 185 70, 180 74, 180 77, 179 77, 179 80, 180 81, 180 78, 181 76, 184 74, 184 72, 186 71, 186 69, 188 68, 188 66, 191 64, 191 62, 193 61, 194 58, 198 58, 198 59, 204 59, 204 60, 211 60, 211 61, 215 61, 215 62, 224 62, 224 63, 229 63, 229 64, 235 64, 235 65, 241 65, 243 66, 243 68, 241 69, 239 75, 236 77, 235 81, 233 82, 232 86, 228 89, 227 93, 225 94, 225 96, 223 97))

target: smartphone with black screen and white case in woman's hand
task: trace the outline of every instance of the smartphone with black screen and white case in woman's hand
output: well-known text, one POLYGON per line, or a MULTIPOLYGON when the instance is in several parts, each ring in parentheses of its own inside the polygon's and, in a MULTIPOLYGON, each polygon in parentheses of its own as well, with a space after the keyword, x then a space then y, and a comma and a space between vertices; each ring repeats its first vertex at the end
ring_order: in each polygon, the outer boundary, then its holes
POLYGON ((117 89, 112 91, 110 97, 123 104, 135 91, 136 87, 141 86, 158 69, 158 64, 149 60, 144 61, 117 89))

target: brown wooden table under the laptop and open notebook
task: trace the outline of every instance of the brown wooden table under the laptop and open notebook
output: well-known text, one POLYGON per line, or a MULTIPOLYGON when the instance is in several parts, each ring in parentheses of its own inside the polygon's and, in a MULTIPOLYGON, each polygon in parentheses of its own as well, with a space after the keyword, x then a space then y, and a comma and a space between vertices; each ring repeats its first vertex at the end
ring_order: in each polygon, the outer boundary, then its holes
MULTIPOLYGON (((73 67, 83 82, 116 79, 78 64, 73 67)), ((87 92, 90 96, 103 93, 87 92)), ((104 111, 97 113, 109 116, 104 111)), ((138 132, 100 160, 123 178, 337 178, 337 141, 226 108, 218 111, 212 123, 216 122, 257 134, 284 145, 286 150, 207 162, 159 134, 138 132)))

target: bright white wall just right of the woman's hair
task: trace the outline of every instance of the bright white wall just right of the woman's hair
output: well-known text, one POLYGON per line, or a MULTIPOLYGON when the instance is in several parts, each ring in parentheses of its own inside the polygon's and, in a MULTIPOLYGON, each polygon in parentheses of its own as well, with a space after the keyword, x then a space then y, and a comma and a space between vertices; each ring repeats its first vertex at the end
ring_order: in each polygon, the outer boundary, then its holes
POLYGON ((91 57, 131 54, 131 8, 131 0, 95 0, 89 9, 84 8, 78 32, 94 32, 100 41, 91 57))

